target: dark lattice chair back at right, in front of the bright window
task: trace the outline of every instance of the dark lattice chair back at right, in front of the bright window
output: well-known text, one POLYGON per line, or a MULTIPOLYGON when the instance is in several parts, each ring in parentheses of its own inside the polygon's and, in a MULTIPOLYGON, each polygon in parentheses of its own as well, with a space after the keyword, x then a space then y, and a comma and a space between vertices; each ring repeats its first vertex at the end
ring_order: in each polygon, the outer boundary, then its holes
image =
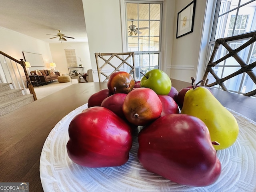
POLYGON ((241 35, 220 38, 215 41, 212 54, 201 83, 203 86, 222 88, 227 92, 244 93, 245 96, 256 94, 256 31, 241 35), (253 56, 255 54, 255 56, 253 56), (226 70, 225 68, 230 68, 226 70), (233 79, 232 79, 233 78, 233 79), (240 82, 238 82, 240 81, 240 82), (250 89, 244 88, 243 82, 250 81, 250 89), (237 90, 228 89, 234 84, 237 90), (255 89, 255 90, 253 90, 255 89))

